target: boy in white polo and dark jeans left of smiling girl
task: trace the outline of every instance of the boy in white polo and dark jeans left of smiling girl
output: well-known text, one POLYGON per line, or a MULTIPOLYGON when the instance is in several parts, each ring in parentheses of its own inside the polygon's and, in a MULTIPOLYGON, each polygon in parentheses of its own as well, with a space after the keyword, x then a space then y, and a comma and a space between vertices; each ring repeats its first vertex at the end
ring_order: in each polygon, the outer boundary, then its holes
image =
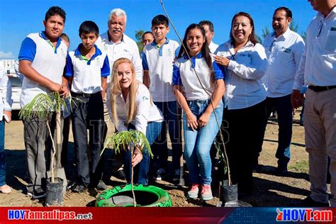
MULTIPOLYGON (((146 45, 142 55, 144 84, 150 89, 155 105, 162 111, 164 122, 159 140, 159 164, 156 180, 161 180, 167 172, 167 126, 172 141, 173 181, 179 180, 179 158, 181 157, 181 128, 177 101, 172 91, 173 62, 179 43, 166 38, 169 32, 169 21, 166 16, 157 15, 152 19, 152 33, 155 40, 146 45)), ((155 147, 154 147, 155 149, 155 147)), ((157 151, 157 150, 155 150, 157 151)), ((155 159, 157 154, 155 155, 155 159)))

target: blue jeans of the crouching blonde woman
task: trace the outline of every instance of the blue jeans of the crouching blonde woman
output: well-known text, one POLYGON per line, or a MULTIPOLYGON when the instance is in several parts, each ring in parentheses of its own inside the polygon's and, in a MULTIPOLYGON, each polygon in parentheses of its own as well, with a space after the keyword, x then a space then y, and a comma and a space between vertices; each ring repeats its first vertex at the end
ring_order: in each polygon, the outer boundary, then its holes
MULTIPOLYGON (((161 133, 162 122, 150 122, 147 124, 146 138, 150 146, 155 142, 159 133, 161 133)), ((128 130, 134 130, 133 125, 129 125, 128 130)), ((142 152, 142 160, 134 168, 133 182, 134 184, 148 185, 148 171, 150 169, 150 152, 145 148, 142 152)), ((132 177, 132 159, 130 150, 127 150, 124 157, 124 170, 126 181, 130 183, 132 177)))

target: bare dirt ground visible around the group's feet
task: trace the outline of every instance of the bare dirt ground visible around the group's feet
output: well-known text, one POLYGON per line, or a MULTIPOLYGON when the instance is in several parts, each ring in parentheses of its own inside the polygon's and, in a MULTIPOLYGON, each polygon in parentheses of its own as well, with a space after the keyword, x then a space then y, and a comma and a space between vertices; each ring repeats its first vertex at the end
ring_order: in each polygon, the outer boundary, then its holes
MULTIPOLYGON (((262 155, 259 163, 265 172, 254 173, 255 191, 253 196, 245 198, 252 206, 289 206, 289 203, 305 198, 309 194, 308 154, 304 145, 304 129, 298 124, 300 111, 296 112, 293 123, 293 138, 291 142, 291 162, 288 177, 276 177, 269 174, 267 169, 276 167, 275 152, 277 147, 278 125, 276 119, 269 120, 264 140, 262 155)), ((71 133, 71 132, 70 132, 71 133)), ((11 194, 0 194, 0 206, 43 206, 43 200, 32 200, 26 195, 26 157, 23 142, 23 124, 12 121, 6 125, 6 181, 13 188, 11 194)), ((73 139, 70 134, 67 179, 74 179, 76 168, 74 165, 73 139)), ((123 184, 123 181, 111 177, 108 187, 123 184)), ((218 187, 213 186, 211 201, 199 201, 186 198, 186 188, 178 188, 169 181, 157 181, 154 185, 169 192, 173 206, 215 206, 218 203, 218 187)), ((64 206, 94 206, 94 200, 101 191, 93 189, 82 194, 67 192, 64 206)))

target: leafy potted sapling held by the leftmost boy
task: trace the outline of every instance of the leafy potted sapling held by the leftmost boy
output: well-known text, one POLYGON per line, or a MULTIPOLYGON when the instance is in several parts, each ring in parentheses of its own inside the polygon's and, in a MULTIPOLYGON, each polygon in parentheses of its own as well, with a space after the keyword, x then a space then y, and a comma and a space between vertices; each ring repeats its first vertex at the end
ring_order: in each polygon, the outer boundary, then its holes
POLYGON ((60 167, 60 153, 62 150, 62 138, 61 138, 61 108, 67 109, 65 99, 63 99, 57 92, 52 92, 50 94, 38 94, 36 95, 30 103, 23 106, 19 116, 21 119, 30 119, 38 117, 45 120, 47 129, 49 131, 50 138, 52 140, 52 157, 50 162, 51 171, 51 182, 55 183, 55 169, 60 167), (55 142, 52 138, 52 133, 50 130, 50 125, 48 118, 55 111, 56 113, 56 147, 55 142), (57 153, 57 158, 59 161, 54 164, 55 155, 57 153))

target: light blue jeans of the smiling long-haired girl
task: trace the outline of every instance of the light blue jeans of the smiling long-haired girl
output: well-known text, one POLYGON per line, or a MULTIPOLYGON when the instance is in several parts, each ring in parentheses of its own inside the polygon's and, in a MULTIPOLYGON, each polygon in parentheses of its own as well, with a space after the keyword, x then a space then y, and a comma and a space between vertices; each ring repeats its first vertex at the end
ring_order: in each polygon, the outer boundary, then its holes
MULTIPOLYGON (((196 119, 206 111, 210 101, 188 101, 191 112, 196 119)), ((189 178, 192 184, 211 184, 211 158, 210 148, 217 135, 223 118, 223 102, 220 101, 215 111, 211 113, 208 123, 203 128, 192 130, 188 127, 186 114, 183 115, 184 130, 184 159, 189 169, 189 178), (215 120, 217 116, 218 123, 215 120), (199 165, 199 167, 198 167, 199 165)))

